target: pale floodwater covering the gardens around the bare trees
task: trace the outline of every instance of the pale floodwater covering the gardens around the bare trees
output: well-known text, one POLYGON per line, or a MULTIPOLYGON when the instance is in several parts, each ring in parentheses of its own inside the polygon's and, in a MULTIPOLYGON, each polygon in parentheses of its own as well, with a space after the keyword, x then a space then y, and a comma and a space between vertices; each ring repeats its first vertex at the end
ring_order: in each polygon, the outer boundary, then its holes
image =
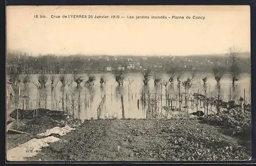
MULTIPOLYGON (((35 109, 40 107, 50 110, 64 110, 81 120, 90 119, 92 117, 97 118, 98 112, 100 112, 100 118, 104 118, 107 114, 109 116, 117 114, 118 118, 122 118, 121 97, 123 97, 123 111, 125 118, 146 118, 146 109, 152 109, 152 107, 154 107, 158 113, 163 113, 163 107, 168 105, 165 100, 166 96, 168 96, 169 99, 173 99, 173 106, 178 108, 177 103, 179 98, 176 78, 174 80, 174 84, 169 84, 165 89, 165 86, 154 86, 154 79, 152 76, 150 84, 148 86, 144 86, 142 74, 139 73, 127 74, 123 82, 123 86, 118 86, 113 74, 104 74, 106 84, 101 86, 99 80, 102 75, 103 74, 94 74, 96 77, 94 85, 88 87, 84 85, 88 79, 87 75, 84 74, 82 75, 84 81, 81 83, 80 87, 77 88, 76 83, 73 82, 70 85, 66 85, 64 90, 62 89, 62 84, 59 81, 60 75, 55 75, 57 84, 53 90, 51 90, 50 87, 50 79, 48 79, 48 84, 45 88, 37 89, 33 82, 37 82, 38 75, 31 75, 31 81, 28 88, 25 89, 24 86, 20 87, 20 96, 28 94, 29 98, 21 98, 17 107, 21 109, 35 109), (130 85, 129 81, 131 82, 130 85), (141 99, 142 97, 145 97, 145 93, 146 96, 150 93, 151 99, 152 101, 155 101, 155 104, 148 106, 142 102, 141 99)), ((50 78, 50 75, 47 76, 50 78)), ((67 77, 72 79, 72 75, 67 75, 67 77)), ((161 77, 168 80, 168 77, 165 74, 162 74, 161 77)), ((182 81, 188 77, 191 77, 191 74, 185 73, 182 81)), ((217 97, 216 81, 214 79, 214 75, 211 73, 196 74, 193 86, 188 92, 190 97, 192 97, 192 94, 196 92, 204 94, 202 85, 202 79, 204 77, 207 77, 208 79, 207 96, 217 97)), ((224 101, 228 101, 229 99, 238 101, 240 97, 244 98, 245 96, 246 103, 250 103, 250 86, 249 74, 241 75, 239 81, 236 83, 235 89, 232 88, 230 75, 225 74, 221 80, 221 98, 224 101)), ((185 90, 182 85, 180 89, 183 94, 185 90)), ((182 95, 182 97, 184 98, 184 95, 182 95)), ((193 100, 190 99, 190 97, 188 97, 188 101, 193 100)), ((190 107, 190 111, 196 110, 192 102, 191 104, 188 103, 188 106, 190 107)), ((13 109, 14 108, 15 106, 13 104, 13 109)))

